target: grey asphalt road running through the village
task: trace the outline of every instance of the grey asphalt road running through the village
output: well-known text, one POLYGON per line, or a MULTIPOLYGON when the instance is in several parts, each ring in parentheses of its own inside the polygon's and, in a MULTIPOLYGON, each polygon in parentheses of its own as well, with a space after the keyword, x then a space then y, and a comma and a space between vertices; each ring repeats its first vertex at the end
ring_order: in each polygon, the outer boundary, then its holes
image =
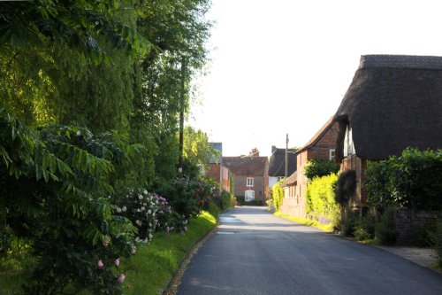
POLYGON ((263 207, 243 206, 220 216, 177 294, 442 294, 442 276, 263 207))

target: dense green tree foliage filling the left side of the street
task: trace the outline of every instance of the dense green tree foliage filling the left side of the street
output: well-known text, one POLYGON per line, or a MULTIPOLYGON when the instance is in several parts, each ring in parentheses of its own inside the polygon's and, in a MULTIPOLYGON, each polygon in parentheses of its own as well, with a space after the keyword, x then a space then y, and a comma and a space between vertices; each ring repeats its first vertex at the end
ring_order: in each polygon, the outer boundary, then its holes
MULTIPOLYGON (((137 231, 148 239, 151 231, 115 214, 115 204, 128 186, 164 189, 176 177, 182 82, 189 113, 189 85, 207 61, 209 7, 0 4, 0 256, 13 237, 30 245, 38 259, 28 293, 121 292, 110 265, 133 251, 137 231)), ((204 152, 189 152, 189 167, 204 152)), ((192 193, 190 215, 201 210, 192 193)))

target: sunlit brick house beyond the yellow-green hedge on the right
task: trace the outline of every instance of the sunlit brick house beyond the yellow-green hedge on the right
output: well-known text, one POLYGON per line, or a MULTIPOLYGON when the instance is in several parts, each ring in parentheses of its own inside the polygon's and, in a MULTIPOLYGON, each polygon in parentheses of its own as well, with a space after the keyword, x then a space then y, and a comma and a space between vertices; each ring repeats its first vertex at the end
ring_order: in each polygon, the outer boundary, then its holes
POLYGON ((307 177, 303 173, 304 167, 311 159, 334 159, 338 127, 339 124, 330 118, 307 144, 296 151, 296 171, 283 183, 285 198, 282 213, 306 217, 307 177))

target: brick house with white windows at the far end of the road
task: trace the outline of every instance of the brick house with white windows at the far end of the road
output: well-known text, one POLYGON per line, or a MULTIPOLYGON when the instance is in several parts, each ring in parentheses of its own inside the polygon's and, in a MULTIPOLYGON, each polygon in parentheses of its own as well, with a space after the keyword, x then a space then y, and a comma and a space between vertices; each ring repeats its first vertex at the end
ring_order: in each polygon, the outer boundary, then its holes
POLYGON ((259 152, 250 156, 223 157, 223 166, 232 173, 234 195, 246 202, 265 202, 265 188, 269 185, 269 159, 259 157, 259 152))

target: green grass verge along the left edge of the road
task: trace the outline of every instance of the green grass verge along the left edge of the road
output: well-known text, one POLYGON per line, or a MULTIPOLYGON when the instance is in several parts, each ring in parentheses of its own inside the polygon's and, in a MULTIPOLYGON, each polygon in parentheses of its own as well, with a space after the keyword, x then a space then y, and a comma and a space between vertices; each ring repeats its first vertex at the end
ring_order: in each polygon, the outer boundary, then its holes
POLYGON ((191 219, 185 235, 156 233, 150 245, 143 245, 125 264, 124 294, 161 294, 194 244, 217 224, 219 210, 191 219))

